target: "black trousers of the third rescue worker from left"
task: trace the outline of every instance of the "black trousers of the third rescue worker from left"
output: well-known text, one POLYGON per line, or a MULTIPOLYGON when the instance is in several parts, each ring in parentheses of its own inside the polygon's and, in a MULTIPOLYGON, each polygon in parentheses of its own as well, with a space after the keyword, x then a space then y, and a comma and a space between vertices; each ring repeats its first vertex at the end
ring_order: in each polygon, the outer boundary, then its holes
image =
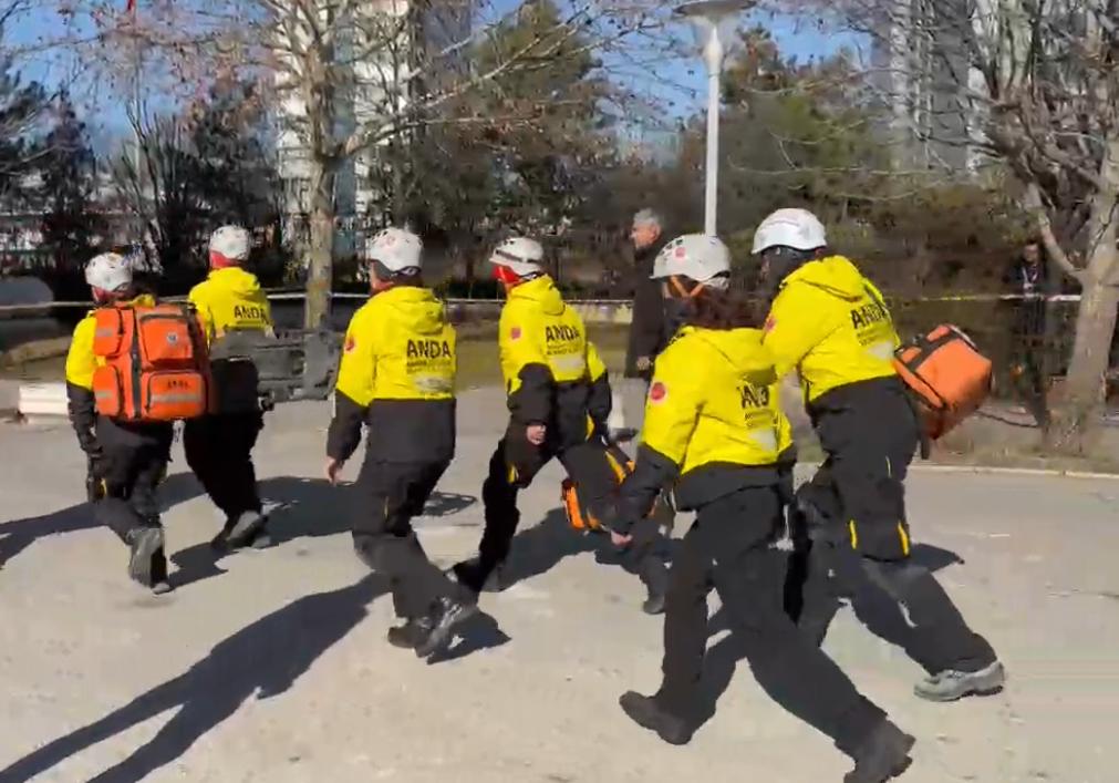
POLYGON ((363 562, 388 578, 396 616, 404 619, 427 614, 444 596, 460 597, 459 588, 427 559, 412 529, 412 519, 423 512, 449 464, 367 457, 348 490, 354 549, 363 562))

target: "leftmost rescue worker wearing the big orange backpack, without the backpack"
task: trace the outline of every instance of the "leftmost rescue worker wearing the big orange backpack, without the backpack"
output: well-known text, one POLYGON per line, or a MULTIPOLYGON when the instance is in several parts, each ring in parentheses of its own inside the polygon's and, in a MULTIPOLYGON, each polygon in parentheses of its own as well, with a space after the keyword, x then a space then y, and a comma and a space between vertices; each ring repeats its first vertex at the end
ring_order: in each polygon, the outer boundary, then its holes
MULTIPOLYGON (((85 268, 97 307, 151 307, 137 295, 132 267, 116 253, 102 253, 85 268)), ((87 490, 94 516, 131 550, 129 576, 154 593, 170 590, 157 490, 170 460, 170 422, 126 422, 96 411, 93 375, 104 361, 93 351, 93 313, 78 321, 66 355, 66 395, 70 425, 90 464, 87 490)))

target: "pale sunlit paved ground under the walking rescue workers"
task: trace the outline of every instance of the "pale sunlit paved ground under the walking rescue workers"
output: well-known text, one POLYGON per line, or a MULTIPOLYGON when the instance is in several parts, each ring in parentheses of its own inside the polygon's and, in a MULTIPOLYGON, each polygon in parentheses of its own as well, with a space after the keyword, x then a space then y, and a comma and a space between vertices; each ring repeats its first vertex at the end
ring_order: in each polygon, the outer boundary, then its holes
MULTIPOLYGON (((566 534, 552 469, 526 493, 520 572, 487 596, 449 660, 389 647, 391 607, 364 578, 318 481, 325 406, 286 406, 257 449, 282 541, 215 562, 208 502, 177 456, 166 515, 177 589, 124 577, 124 550, 82 505, 65 427, 0 425, 0 781, 641 783, 839 781, 847 761, 754 684, 723 635, 726 684, 690 746, 662 745, 617 697, 652 689, 660 623, 640 588, 566 534)), ((479 535, 477 495, 501 423, 462 401, 460 457, 424 521, 451 562, 479 535)), ((1116 780, 1119 482, 919 474, 923 557, 1000 650, 999 697, 918 701, 915 667, 840 616, 828 650, 915 734, 914 783, 1116 780), (955 557, 963 563, 955 562, 955 557)))

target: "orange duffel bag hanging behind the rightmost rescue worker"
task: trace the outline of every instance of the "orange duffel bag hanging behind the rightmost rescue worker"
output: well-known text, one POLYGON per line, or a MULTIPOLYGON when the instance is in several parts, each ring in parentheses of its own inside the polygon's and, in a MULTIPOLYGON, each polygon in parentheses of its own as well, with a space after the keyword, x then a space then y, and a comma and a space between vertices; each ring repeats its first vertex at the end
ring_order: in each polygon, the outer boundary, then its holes
POLYGON ((938 326, 902 345, 894 366, 913 393, 932 440, 979 410, 990 393, 990 360, 956 326, 938 326))

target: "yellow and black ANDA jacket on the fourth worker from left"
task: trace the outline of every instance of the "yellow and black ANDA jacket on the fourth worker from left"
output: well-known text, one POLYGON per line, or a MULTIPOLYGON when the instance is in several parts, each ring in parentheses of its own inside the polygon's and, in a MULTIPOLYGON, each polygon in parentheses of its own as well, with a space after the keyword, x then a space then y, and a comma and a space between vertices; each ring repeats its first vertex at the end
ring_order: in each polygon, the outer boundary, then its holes
MULTIPOLYGON (((542 276, 509 291, 498 325, 501 375, 517 425, 544 423, 561 446, 586 440, 610 413, 606 367, 583 319, 542 276)), ((551 437, 551 436, 549 436, 551 437)))

